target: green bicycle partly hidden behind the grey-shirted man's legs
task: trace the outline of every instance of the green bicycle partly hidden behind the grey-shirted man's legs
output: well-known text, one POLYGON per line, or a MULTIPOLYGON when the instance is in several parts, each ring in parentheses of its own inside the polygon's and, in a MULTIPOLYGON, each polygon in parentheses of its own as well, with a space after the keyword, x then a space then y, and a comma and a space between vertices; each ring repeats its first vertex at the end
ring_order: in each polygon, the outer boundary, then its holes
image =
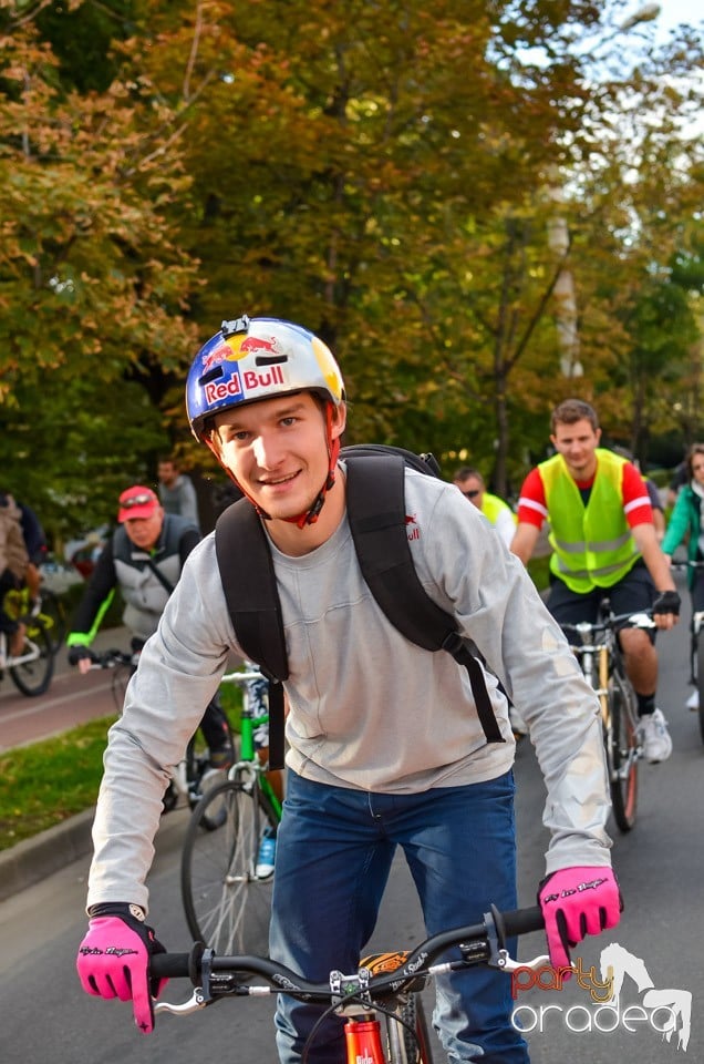
POLYGON ((276 835, 281 820, 281 802, 255 749, 255 732, 269 722, 266 681, 247 663, 226 673, 222 683, 242 689, 239 759, 193 814, 182 855, 182 899, 194 940, 219 953, 262 952, 272 874, 257 873, 257 856, 263 832, 276 835))

